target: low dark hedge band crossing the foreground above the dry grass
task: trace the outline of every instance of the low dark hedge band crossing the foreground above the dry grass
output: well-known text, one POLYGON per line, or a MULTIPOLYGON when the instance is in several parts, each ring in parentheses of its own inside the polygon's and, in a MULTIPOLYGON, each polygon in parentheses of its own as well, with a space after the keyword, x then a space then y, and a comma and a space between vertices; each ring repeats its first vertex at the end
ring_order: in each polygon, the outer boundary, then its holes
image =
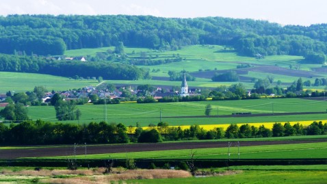
MULTIPOLYGON (((114 167, 125 167, 125 159, 114 159, 114 167)), ((187 159, 135 159, 137 168, 149 168, 154 163, 163 168, 167 163, 171 167, 179 167, 187 159)), ((195 159, 196 168, 219 168, 226 166, 274 166, 274 165, 319 165, 327 164, 327 159, 195 159)), ((66 159, 0 159, 0 166, 25 167, 67 167, 66 159)), ((87 168, 104 167, 104 159, 79 159, 77 166, 87 168)))

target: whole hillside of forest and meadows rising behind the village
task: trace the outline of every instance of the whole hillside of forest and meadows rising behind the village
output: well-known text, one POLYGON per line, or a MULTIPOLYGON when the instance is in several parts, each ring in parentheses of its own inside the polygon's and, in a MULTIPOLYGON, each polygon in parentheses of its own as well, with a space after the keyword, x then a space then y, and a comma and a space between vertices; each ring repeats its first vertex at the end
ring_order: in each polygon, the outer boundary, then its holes
POLYGON ((300 77, 311 84, 327 77, 326 26, 222 17, 11 15, 0 17, 0 53, 7 53, 0 54, 0 71, 179 86, 176 73, 186 70, 192 87, 240 81, 252 89, 270 76, 273 86, 287 88, 300 77), (211 80, 229 70, 239 81, 211 80))

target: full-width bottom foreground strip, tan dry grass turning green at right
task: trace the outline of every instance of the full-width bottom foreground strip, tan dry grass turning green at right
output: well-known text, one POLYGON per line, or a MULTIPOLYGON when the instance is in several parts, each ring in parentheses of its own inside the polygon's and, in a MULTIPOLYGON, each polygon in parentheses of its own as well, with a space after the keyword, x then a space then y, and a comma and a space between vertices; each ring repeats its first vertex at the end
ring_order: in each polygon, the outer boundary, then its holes
MULTIPOLYGON (((124 170, 104 168, 64 170, 60 168, 0 168, 0 183, 326 183, 326 165, 313 166, 243 166, 211 169, 211 175, 192 177, 183 170, 124 170)), ((200 174, 201 171, 198 172, 200 174)))

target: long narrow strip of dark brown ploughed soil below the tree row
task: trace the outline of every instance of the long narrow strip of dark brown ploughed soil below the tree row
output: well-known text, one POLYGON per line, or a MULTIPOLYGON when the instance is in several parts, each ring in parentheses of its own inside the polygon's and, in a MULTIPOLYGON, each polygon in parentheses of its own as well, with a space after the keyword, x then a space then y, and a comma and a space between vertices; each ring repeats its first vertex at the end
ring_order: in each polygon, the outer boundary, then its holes
MULTIPOLYGON (((309 142, 326 142, 320 140, 287 140, 287 141, 240 141, 240 146, 259 146, 272 144, 300 144, 309 142)), ((227 147, 228 142, 178 142, 178 143, 152 143, 152 144, 107 144, 88 145, 87 154, 100 153, 129 153, 148 150, 177 150, 192 148, 222 148, 227 147)), ((12 150, 0 150, 0 159, 17 159, 21 157, 51 157, 71 156, 74 146, 63 146, 57 148, 23 148, 12 150)), ((85 147, 77 146, 76 155, 84 155, 85 147)))

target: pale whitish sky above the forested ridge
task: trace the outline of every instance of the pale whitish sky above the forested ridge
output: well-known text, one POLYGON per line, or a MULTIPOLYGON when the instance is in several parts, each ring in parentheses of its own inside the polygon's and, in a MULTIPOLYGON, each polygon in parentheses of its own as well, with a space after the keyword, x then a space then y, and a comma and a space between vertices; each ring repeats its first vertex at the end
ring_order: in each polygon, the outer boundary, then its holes
POLYGON ((326 0, 0 0, 0 15, 152 15, 252 18, 280 25, 327 23, 326 0))

